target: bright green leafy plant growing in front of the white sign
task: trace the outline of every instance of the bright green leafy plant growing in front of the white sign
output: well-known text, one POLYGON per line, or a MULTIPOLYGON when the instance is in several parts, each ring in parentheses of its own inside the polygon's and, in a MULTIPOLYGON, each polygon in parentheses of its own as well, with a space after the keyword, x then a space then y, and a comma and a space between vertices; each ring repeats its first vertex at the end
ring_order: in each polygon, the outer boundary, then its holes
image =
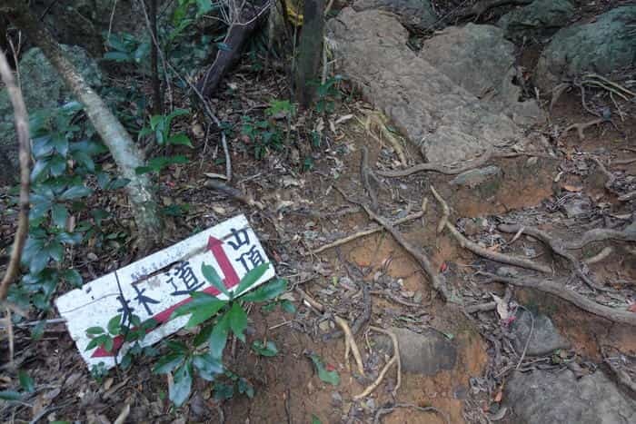
MULTIPOLYGON (((244 334, 247 328, 246 304, 273 302, 286 290, 286 281, 276 279, 248 292, 268 267, 268 263, 257 266, 243 277, 235 291, 228 291, 221 277, 214 271, 214 267, 202 265, 201 271, 205 279, 223 293, 224 299, 204 291, 191 292, 192 301, 174 311, 171 319, 190 315, 185 328, 201 326, 199 332, 187 342, 165 341, 164 352, 158 355, 154 363, 154 373, 173 375, 174 384, 170 387, 168 397, 175 406, 183 405, 190 396, 194 375, 204 380, 214 381, 214 392, 218 399, 234 396, 235 389, 249 397, 253 396, 253 386, 224 367, 223 351, 230 334, 234 334, 243 343, 246 342, 244 334), (219 380, 221 378, 223 379, 219 380)), ((122 316, 123 314, 114 316, 105 329, 102 327, 86 329, 86 335, 91 338, 86 350, 102 347, 113 351, 114 339, 123 336, 125 341, 132 344, 130 350, 124 353, 119 366, 124 368, 130 366, 135 356, 156 356, 157 350, 154 348, 142 347, 145 334, 154 329, 156 322, 154 320, 142 322, 139 317, 132 315, 132 318, 124 323, 122 316)), ((264 344, 260 340, 254 341, 252 347, 257 354, 264 357, 272 357, 278 353, 272 341, 264 344)))

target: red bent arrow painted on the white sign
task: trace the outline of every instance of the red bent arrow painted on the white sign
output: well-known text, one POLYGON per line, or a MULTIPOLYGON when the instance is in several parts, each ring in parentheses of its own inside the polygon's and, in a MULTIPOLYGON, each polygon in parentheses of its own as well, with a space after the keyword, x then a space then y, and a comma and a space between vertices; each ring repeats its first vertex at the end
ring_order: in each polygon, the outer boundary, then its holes
MULTIPOLYGON (((219 267, 221 268, 221 271, 223 272, 224 286, 228 289, 231 289, 239 283, 239 278, 236 271, 234 271, 232 262, 230 262, 230 259, 227 257, 227 254, 225 254, 223 245, 224 245, 224 242, 222 240, 216 239, 213 236, 210 236, 210 239, 208 240, 208 243, 207 243, 208 250, 212 252, 214 259, 216 260, 216 263, 219 264, 219 267)), ((207 289, 204 289, 203 292, 216 296, 221 291, 219 291, 216 287, 208 287, 207 289)), ((186 303, 189 303, 190 301, 192 301, 192 297, 189 297, 187 299, 184 299, 183 301, 175 303, 173 306, 171 306, 167 310, 161 311, 157 313, 156 315, 154 315, 153 319, 157 321, 159 324, 163 324, 164 322, 167 322, 170 319, 170 316, 173 314, 173 312, 177 308, 179 308, 180 306, 183 306, 186 303)), ((148 332, 150 331, 152 330, 149 330, 148 332)), ((113 340, 112 351, 105 350, 104 347, 100 346, 99 348, 94 350, 93 355, 91 355, 91 358, 112 357, 122 347, 123 344, 124 344, 124 337, 117 336, 113 340)))

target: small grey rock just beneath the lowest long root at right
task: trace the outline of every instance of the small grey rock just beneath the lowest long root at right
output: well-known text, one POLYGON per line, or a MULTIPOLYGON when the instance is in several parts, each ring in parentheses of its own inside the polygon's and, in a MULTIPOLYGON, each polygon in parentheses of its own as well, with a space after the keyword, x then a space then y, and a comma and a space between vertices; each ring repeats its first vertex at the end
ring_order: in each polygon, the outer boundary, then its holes
MULTIPOLYGON (((514 349, 519 354, 525 348, 531 328, 532 316, 529 312, 522 310, 517 314, 511 328, 514 335, 514 349)), ((526 355, 542 356, 550 354, 554 350, 568 349, 569 347, 570 343, 561 337, 559 330, 554 327, 549 317, 543 314, 534 315, 534 328, 532 329, 532 337, 530 338, 526 355)))

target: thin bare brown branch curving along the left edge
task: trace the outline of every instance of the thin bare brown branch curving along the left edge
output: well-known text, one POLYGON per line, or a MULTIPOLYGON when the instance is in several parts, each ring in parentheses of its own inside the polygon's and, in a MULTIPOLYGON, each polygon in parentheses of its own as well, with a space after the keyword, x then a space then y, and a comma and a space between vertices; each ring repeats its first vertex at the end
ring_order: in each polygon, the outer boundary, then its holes
POLYGON ((25 99, 22 91, 15 83, 6 56, 0 50, 0 76, 5 83, 11 104, 14 106, 15 133, 19 148, 20 162, 20 200, 17 230, 5 276, 0 282, 0 302, 5 301, 9 286, 20 271, 20 258, 25 247, 29 230, 29 183, 31 182, 31 140, 29 136, 29 118, 26 113, 25 99))

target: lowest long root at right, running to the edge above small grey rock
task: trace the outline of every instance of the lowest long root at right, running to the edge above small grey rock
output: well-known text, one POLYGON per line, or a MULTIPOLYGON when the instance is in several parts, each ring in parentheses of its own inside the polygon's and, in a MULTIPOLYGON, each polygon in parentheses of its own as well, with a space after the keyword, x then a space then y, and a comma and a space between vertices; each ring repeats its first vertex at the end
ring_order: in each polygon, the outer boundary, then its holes
POLYGON ((590 299, 582 296, 576 291, 567 289, 562 284, 547 280, 537 280, 533 278, 510 278, 502 277, 500 275, 479 272, 479 274, 488 277, 491 281, 503 282, 506 284, 512 284, 517 287, 525 287, 528 289, 535 289, 550 293, 563 301, 569 301, 573 305, 581 308, 583 311, 588 311, 591 314, 597 315, 601 318, 611 320, 612 322, 619 322, 621 324, 628 324, 636 327, 636 313, 630 311, 620 311, 609 306, 603 306, 600 303, 591 301, 590 299))

